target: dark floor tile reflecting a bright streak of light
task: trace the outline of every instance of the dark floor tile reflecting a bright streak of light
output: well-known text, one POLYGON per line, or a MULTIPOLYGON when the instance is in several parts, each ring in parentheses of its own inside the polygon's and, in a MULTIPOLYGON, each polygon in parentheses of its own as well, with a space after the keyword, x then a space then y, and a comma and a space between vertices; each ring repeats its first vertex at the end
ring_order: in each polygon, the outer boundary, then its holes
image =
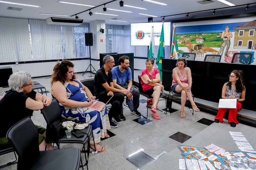
POLYGON ((128 160, 130 163, 132 163, 134 166, 136 166, 139 169, 155 161, 155 159, 153 159, 151 156, 149 156, 148 154, 142 151, 130 156, 126 160, 128 160))

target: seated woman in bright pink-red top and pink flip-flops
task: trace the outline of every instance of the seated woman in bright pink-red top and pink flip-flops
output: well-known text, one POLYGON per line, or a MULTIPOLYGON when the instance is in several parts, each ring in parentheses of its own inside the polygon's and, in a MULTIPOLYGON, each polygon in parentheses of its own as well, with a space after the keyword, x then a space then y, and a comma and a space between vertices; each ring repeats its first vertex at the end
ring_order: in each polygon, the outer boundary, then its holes
POLYGON ((142 85, 143 92, 153 97, 153 105, 151 108, 152 116, 154 119, 161 119, 157 114, 157 105, 159 102, 159 96, 164 86, 160 84, 161 78, 158 69, 154 69, 154 60, 149 58, 146 60, 146 69, 142 71, 140 76, 140 83, 142 85))

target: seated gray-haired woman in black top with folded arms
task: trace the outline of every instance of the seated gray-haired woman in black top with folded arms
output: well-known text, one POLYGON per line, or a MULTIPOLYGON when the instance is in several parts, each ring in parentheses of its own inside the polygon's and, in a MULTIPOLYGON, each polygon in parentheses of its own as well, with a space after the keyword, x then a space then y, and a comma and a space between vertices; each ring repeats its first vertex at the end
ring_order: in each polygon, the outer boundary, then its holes
MULTIPOLYGON (((0 99, 0 116, 4 120, 1 123, 0 148, 8 148, 12 145, 6 138, 7 131, 17 122, 26 117, 31 117, 34 110, 40 110, 44 106, 49 106, 52 98, 44 96, 32 90, 34 85, 31 75, 25 71, 13 73, 8 80, 9 90, 2 99, 0 99)), ((45 150, 46 129, 35 125, 39 133, 39 150, 45 150)), ((53 150, 52 144, 47 144, 46 150, 53 150)))

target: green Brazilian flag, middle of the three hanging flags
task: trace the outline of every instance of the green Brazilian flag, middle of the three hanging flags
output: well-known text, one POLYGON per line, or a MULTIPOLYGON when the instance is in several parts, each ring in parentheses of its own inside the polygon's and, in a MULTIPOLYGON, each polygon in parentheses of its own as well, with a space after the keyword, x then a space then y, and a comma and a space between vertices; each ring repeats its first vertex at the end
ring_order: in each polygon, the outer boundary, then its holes
POLYGON ((158 70, 160 72, 161 81, 162 81, 162 58, 165 58, 163 25, 162 25, 161 37, 159 41, 158 53, 156 57, 156 65, 158 66, 158 70))

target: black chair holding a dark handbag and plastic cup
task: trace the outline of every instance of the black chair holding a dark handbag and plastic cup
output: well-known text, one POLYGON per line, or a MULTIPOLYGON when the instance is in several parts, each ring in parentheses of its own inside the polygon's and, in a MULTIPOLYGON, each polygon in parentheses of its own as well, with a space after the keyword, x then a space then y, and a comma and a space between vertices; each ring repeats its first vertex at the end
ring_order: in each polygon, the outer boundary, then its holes
MULTIPOLYGON (((86 159, 86 163, 83 166, 86 165, 87 169, 88 169, 88 159, 89 159, 89 153, 90 153, 89 139, 90 139, 91 134, 93 136, 92 126, 88 125, 85 129, 79 130, 80 132, 85 134, 84 137, 77 138, 74 135, 71 135, 70 138, 67 138, 66 135, 64 135, 60 139, 56 140, 56 138, 51 134, 50 129, 51 129, 52 123, 54 123, 55 121, 58 121, 58 120, 59 121, 62 120, 62 116, 61 116, 62 112, 61 112, 60 106, 58 104, 58 101, 56 99, 53 99, 50 106, 44 107, 43 109, 41 109, 41 113, 43 114, 45 121, 47 123, 46 144, 55 143, 59 149, 60 149, 60 144, 63 144, 63 143, 83 144, 82 152, 85 153, 85 159, 86 159), (87 143, 87 151, 85 150, 86 143, 87 143), (87 157, 86 157, 86 152, 87 152, 87 157)), ((63 131, 64 131, 64 129, 63 129, 63 131)), ((94 138, 93 138, 93 140, 94 140, 94 138)), ((45 145, 45 149, 46 149, 46 145, 45 145)))

